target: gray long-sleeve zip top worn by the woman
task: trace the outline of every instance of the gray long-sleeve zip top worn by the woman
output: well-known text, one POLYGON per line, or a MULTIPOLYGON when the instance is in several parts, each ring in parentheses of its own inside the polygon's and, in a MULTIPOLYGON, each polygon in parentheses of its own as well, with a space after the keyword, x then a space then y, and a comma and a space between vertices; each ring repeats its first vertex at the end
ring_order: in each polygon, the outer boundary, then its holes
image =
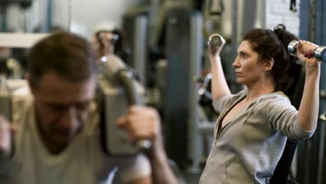
POLYGON ((199 183, 269 183, 284 151, 286 137, 306 139, 313 135, 300 128, 297 110, 281 91, 257 98, 217 132, 224 116, 246 95, 247 90, 243 90, 213 102, 221 114, 199 183))

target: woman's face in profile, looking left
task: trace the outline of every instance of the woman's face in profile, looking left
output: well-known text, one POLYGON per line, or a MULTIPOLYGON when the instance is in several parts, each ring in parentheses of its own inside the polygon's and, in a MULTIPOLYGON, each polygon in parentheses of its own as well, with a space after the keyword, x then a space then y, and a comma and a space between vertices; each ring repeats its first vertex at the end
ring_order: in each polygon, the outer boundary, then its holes
POLYGON ((251 49, 251 43, 243 40, 238 48, 238 56, 233 62, 237 82, 250 85, 258 82, 263 76, 261 56, 251 49))

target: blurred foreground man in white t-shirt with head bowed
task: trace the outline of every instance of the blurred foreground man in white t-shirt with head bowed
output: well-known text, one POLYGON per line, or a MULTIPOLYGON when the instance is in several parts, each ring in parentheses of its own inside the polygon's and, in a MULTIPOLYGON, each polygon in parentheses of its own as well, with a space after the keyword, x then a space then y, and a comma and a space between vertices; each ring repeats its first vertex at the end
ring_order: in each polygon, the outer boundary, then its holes
POLYGON ((123 183, 152 183, 151 168, 154 182, 161 169, 166 177, 157 183, 176 183, 154 109, 130 107, 118 121, 134 141, 153 141, 152 163, 142 154, 113 158, 102 151, 92 103, 96 76, 84 38, 54 33, 32 47, 26 79, 33 100, 18 102, 13 123, 0 118, 0 183, 108 183, 116 168, 123 183))

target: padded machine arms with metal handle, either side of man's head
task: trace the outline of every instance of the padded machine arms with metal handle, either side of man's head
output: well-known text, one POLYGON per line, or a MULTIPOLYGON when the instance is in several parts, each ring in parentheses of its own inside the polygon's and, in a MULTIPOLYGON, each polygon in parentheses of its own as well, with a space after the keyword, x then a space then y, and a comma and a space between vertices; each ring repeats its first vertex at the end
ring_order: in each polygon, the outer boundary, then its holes
MULTIPOLYGON (((99 67, 99 88, 95 100, 98 102, 98 112, 101 115, 99 141, 101 141, 102 149, 110 155, 134 155, 150 148, 151 142, 146 139, 138 141, 136 145, 132 144, 127 132, 116 126, 116 119, 127 112, 129 105, 143 103, 144 89, 134 79, 132 70, 128 69, 118 57, 108 57, 107 61, 100 63, 99 67)), ((16 89, 22 88, 28 88, 26 80, 8 80, 1 76, 0 112, 9 121, 15 109, 12 107, 13 93, 16 89)))

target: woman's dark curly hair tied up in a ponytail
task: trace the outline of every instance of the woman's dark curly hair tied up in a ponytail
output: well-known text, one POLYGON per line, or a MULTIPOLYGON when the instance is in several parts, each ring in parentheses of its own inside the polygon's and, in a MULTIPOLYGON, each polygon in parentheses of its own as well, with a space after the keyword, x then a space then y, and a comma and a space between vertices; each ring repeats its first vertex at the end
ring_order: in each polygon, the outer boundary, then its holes
POLYGON ((291 40, 298 40, 297 36, 286 30, 283 24, 270 29, 251 29, 244 34, 242 40, 248 40, 251 48, 261 56, 261 62, 274 59, 272 76, 274 90, 286 92, 293 84, 293 69, 297 59, 288 54, 288 44, 291 40))

